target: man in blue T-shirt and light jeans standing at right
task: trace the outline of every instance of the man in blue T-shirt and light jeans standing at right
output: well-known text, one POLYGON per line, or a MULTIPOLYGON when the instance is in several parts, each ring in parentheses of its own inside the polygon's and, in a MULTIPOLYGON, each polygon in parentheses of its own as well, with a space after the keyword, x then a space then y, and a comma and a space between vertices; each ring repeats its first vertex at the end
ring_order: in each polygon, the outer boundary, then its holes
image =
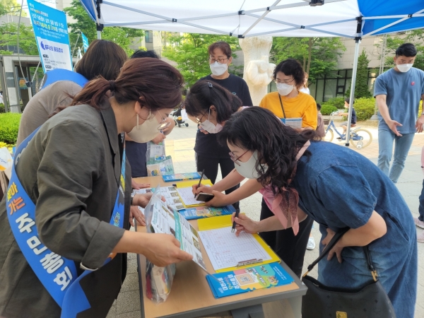
POLYGON ((379 110, 377 165, 394 183, 404 170, 414 134, 423 131, 424 114, 418 119, 417 114, 420 99, 424 100, 424 71, 412 67, 416 54, 413 44, 401 45, 393 58, 396 66, 375 80, 379 110), (393 142, 394 160, 389 169, 393 142))

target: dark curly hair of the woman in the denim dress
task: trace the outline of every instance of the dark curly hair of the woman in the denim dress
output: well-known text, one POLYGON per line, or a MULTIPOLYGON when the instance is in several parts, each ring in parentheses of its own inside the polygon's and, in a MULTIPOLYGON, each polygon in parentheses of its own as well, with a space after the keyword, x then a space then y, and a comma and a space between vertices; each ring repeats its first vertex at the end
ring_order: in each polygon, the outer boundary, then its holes
MULTIPOLYGON (((290 179, 297 166, 296 155, 302 146, 314 139, 314 130, 298 132, 286 126, 269 110, 261 107, 249 107, 232 115, 225 122, 218 141, 222 145, 231 145, 250 151, 258 151, 256 170, 262 186, 271 185, 273 194, 280 194, 282 188, 289 187, 290 179), (264 172, 260 163, 266 163, 264 172)), ((305 151, 305 155, 311 155, 305 151)))

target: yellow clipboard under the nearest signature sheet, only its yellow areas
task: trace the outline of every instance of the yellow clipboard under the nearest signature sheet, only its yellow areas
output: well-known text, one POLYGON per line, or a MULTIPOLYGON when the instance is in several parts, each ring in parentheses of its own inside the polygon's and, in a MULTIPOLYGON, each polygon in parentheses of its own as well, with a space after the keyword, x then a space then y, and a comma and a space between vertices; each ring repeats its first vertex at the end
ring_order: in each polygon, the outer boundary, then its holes
MULTIPOLYGON (((199 220, 197 220, 197 225, 199 226, 199 231, 213 230, 216 228, 226 228, 228 226, 232 226, 231 216, 216 216, 214 218, 200 218, 199 220)), ((262 239, 262 237, 260 237, 258 234, 253 234, 253 237, 255 238, 255 240, 259 242, 261 247, 265 249, 266 253, 269 254, 271 259, 269 259, 268 261, 260 261, 257 263, 251 263, 244 266, 233 266, 233 267, 228 267, 226 269, 218 269, 216 273, 224 273, 225 271, 235 271, 237 269, 246 269, 247 267, 252 267, 252 265, 256 266, 256 265, 262 265, 262 264, 281 262, 281 259, 277 256, 275 252, 273 252, 271 247, 269 247, 269 245, 266 244, 266 242, 262 239)))

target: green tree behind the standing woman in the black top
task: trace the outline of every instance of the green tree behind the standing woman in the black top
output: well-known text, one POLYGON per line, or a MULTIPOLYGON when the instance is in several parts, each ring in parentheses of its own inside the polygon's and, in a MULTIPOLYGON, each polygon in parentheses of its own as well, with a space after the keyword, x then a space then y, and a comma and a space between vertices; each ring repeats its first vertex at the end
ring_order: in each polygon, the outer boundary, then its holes
MULTIPOLYGON (((167 47, 163 55, 177 62, 177 69, 181 71, 187 85, 192 86, 199 78, 211 73, 208 46, 216 41, 227 42, 233 52, 240 49, 237 37, 184 33, 182 36, 172 37, 171 42, 174 46, 167 47)), ((232 58, 235 57, 236 55, 232 54, 232 58)))

